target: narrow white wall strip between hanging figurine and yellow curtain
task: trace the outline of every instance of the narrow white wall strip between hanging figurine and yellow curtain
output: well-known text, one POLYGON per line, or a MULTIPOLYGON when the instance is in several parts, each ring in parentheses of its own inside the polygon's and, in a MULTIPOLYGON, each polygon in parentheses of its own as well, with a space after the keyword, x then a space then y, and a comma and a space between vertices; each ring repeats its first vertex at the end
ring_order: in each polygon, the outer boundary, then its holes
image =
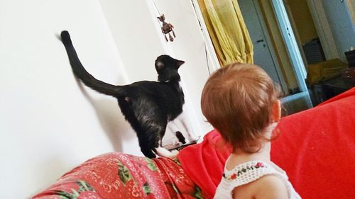
MULTIPOLYGON (((187 107, 190 108, 189 110, 194 110, 195 120, 193 122, 200 127, 195 128, 200 131, 197 133, 204 135, 204 133, 211 130, 211 127, 205 122, 202 115, 200 99, 204 82, 209 77, 209 69, 207 68, 205 44, 195 11, 190 0, 159 0, 155 1, 155 4, 160 14, 165 14, 165 21, 172 23, 175 27, 176 38, 174 42, 168 42, 168 45, 170 45, 168 48, 170 47, 175 57, 185 61, 185 64, 180 69, 180 74, 186 98, 190 101, 190 106, 187 107)), ((158 33, 160 33, 160 30, 158 30, 158 33)), ((160 33, 159 35, 160 39, 164 40, 163 34, 160 33)), ((212 67, 211 65, 212 62, 209 60, 210 68, 212 67)))

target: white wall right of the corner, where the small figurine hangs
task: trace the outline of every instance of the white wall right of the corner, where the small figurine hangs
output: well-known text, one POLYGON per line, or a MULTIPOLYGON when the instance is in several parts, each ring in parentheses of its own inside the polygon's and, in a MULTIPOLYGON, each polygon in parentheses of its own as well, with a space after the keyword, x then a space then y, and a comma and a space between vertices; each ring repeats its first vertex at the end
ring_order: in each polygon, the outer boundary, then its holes
POLYGON ((196 134, 204 135, 211 127, 200 110, 204 82, 209 76, 204 40, 191 1, 100 0, 122 61, 131 81, 156 80, 155 58, 168 54, 182 59, 180 68, 187 112, 196 134), (165 14, 165 21, 175 27, 174 42, 165 42, 156 16, 165 14))

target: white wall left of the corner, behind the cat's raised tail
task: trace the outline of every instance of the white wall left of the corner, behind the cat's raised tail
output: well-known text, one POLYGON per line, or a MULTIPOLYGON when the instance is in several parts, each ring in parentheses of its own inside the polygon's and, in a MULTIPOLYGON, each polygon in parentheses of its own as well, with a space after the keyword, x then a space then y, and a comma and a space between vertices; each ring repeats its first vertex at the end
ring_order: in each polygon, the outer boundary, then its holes
POLYGON ((97 1, 1 0, 0 27, 0 198, 28 198, 98 154, 138 154, 124 146, 136 137, 114 98, 86 88, 84 96, 57 38, 70 30, 87 69, 124 84, 97 1))

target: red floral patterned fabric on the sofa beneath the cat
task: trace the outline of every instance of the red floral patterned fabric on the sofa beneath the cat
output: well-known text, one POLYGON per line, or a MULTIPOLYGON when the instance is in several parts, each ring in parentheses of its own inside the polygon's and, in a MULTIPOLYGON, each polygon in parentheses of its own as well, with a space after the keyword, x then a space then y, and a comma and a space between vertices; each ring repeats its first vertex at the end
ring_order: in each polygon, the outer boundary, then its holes
POLYGON ((64 174, 33 199, 202 198, 178 160, 109 153, 64 174))

